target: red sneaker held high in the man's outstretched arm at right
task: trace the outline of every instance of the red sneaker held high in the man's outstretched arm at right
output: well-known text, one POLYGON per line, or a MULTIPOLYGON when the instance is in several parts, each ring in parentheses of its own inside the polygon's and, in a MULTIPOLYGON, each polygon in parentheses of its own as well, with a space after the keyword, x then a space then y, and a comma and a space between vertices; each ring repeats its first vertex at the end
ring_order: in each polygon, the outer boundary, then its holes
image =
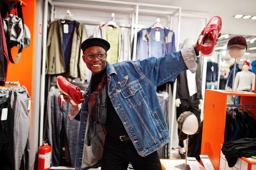
POLYGON ((209 23, 205 27, 202 41, 200 44, 201 53, 204 56, 211 56, 214 50, 216 39, 221 30, 221 18, 220 16, 214 16, 210 19, 209 23))

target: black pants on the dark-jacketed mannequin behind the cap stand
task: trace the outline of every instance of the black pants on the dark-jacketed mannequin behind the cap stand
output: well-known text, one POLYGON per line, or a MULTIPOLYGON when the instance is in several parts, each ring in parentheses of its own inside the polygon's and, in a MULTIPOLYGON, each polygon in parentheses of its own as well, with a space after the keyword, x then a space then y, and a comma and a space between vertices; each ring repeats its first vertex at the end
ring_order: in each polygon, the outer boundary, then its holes
MULTIPOLYGON (((198 119, 198 124, 201 122, 200 115, 201 115, 201 109, 198 109, 198 105, 200 104, 199 99, 197 99, 197 94, 194 94, 193 96, 190 96, 188 99, 180 99, 181 104, 179 107, 177 107, 177 115, 176 118, 178 120, 179 116, 183 112, 190 111, 194 113, 198 119)), ((180 130, 178 128, 178 134, 180 130)), ((179 140, 179 146, 184 147, 183 140, 179 140)))

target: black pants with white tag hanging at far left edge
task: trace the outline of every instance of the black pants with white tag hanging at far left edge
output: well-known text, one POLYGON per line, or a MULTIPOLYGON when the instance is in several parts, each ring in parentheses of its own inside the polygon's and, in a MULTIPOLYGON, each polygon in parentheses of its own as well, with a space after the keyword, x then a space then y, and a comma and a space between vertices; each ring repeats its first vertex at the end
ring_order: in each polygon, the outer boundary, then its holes
POLYGON ((0 117, 3 108, 7 108, 7 119, 0 120, 0 169, 14 170, 14 150, 13 150, 13 127, 14 114, 10 106, 10 99, 6 97, 0 99, 0 117))

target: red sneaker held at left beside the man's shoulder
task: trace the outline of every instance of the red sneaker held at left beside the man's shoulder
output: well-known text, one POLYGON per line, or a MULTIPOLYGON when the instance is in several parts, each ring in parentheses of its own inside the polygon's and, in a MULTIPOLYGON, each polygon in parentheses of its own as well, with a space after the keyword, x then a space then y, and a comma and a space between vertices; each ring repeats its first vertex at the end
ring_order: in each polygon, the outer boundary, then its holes
POLYGON ((58 76, 56 83, 58 89, 62 93, 72 98, 72 100, 70 101, 72 105, 76 106, 77 104, 84 102, 84 96, 79 87, 69 83, 69 81, 67 81, 63 76, 58 76))

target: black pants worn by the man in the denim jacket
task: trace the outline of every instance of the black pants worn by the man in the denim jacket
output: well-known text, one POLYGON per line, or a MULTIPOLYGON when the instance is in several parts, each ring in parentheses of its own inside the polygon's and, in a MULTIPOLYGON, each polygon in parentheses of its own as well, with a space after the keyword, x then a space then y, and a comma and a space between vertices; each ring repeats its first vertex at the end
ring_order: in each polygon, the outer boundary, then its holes
POLYGON ((107 135, 101 170, 127 170, 129 162, 134 170, 162 170, 156 151, 146 157, 141 157, 131 140, 121 142, 107 135))

